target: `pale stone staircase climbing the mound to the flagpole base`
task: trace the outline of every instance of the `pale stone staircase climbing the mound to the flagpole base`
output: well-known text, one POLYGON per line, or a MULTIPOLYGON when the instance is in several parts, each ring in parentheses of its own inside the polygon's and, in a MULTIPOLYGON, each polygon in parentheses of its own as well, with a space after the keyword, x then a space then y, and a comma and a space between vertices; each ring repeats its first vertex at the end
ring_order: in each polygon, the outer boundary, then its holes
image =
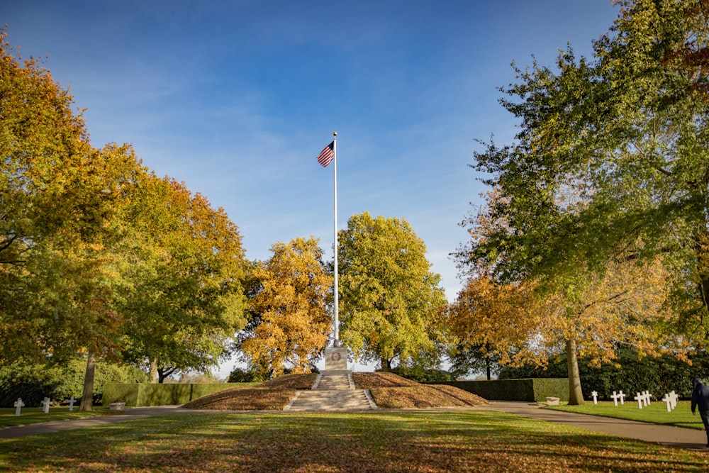
POLYGON ((313 389, 297 391, 284 411, 365 411, 376 409, 368 389, 354 389, 350 370, 318 374, 313 389))

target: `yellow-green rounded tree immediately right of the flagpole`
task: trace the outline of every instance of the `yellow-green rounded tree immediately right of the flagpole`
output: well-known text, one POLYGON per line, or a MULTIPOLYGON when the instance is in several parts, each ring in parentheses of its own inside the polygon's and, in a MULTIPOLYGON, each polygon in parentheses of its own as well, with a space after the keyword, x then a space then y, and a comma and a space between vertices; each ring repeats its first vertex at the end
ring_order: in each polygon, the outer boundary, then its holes
POLYGON ((338 235, 340 340, 365 361, 437 356, 440 275, 406 220, 354 215, 338 235))

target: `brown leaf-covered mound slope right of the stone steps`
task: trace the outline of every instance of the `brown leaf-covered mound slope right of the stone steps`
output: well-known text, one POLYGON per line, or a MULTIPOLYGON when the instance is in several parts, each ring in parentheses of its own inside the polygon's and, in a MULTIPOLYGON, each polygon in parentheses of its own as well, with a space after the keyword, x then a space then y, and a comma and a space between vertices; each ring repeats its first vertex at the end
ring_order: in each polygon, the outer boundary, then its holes
POLYGON ((380 409, 484 406, 488 401, 445 384, 420 384, 393 373, 354 373, 358 389, 369 389, 380 409))

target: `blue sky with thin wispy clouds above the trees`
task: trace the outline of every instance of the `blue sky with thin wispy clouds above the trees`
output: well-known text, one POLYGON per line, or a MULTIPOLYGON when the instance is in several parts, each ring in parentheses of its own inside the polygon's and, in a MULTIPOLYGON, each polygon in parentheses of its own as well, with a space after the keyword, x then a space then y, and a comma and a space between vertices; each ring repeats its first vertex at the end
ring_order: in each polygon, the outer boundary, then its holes
POLYGON ((333 172, 315 160, 337 131, 338 228, 406 218, 454 299, 448 254, 484 186, 476 139, 506 143, 497 87, 510 63, 552 65, 618 15, 610 0, 3 1, 23 57, 86 108, 91 141, 132 143, 147 167, 225 208, 250 259, 314 235, 331 257, 333 172))

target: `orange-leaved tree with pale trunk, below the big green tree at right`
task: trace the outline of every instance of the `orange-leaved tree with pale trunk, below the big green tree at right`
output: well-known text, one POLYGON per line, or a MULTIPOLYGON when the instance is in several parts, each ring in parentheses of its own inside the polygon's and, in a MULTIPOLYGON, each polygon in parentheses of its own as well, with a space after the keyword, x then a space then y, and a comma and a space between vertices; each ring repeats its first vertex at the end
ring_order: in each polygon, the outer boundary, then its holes
MULTIPOLYGON (((579 204, 579 196, 560 192, 555 201, 570 206, 579 204)), ((459 345, 509 366, 544 365, 549 355, 566 351, 571 404, 583 403, 579 356, 598 365, 630 346, 640 357, 684 357, 688 346, 672 330, 678 317, 668 310, 669 273, 660 257, 647 263, 625 252, 605 262, 602 272, 577 264, 574 274, 501 281, 496 272, 507 263, 504 249, 484 258, 476 258, 474 250, 490 235, 513 235, 507 216, 496 212, 505 204, 506 197, 494 189, 463 223, 471 240, 456 258, 468 279, 447 313, 459 345)))

